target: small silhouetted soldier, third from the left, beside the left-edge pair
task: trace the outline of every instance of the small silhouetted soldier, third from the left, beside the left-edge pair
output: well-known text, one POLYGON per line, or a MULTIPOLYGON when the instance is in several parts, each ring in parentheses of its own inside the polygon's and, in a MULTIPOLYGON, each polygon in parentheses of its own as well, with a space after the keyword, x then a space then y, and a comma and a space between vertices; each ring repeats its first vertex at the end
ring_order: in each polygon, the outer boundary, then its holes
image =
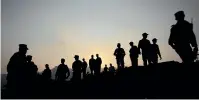
POLYGON ((51 70, 48 64, 45 65, 45 68, 46 69, 43 71, 42 76, 45 81, 49 81, 51 79, 51 70))

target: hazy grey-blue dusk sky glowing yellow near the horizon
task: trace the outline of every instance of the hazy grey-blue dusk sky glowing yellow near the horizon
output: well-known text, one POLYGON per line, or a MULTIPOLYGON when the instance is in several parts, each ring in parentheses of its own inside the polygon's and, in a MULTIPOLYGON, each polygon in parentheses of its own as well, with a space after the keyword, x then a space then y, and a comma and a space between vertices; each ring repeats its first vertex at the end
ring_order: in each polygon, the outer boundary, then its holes
MULTIPOLYGON (((142 33, 158 39, 162 60, 179 61, 168 45, 174 13, 183 10, 186 20, 193 18, 199 44, 199 0, 1 0, 1 68, 6 73, 10 57, 19 44, 28 45, 27 55, 39 71, 45 64, 53 68, 61 58, 71 68, 74 55, 90 59, 97 53, 102 67, 112 63, 117 43, 126 52, 130 66, 129 42, 136 45, 142 33)), ((142 65, 142 56, 139 56, 142 65)))

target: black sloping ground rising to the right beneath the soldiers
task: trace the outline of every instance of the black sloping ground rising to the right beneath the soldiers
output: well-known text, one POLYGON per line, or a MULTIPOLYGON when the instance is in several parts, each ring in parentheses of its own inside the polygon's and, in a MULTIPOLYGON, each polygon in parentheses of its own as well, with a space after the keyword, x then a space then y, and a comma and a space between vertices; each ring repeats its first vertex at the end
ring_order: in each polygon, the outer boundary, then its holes
POLYGON ((125 68, 111 76, 88 76, 79 83, 39 81, 33 90, 2 91, 2 98, 199 98, 199 63, 164 62, 125 68), (13 92, 13 93, 11 93, 13 92))

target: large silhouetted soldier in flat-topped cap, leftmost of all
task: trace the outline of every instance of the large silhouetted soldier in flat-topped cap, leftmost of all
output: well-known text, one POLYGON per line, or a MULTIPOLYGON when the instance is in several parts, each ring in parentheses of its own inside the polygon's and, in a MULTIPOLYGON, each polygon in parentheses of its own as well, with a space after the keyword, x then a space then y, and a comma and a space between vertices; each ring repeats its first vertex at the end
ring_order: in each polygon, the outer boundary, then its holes
POLYGON ((7 86, 10 88, 20 88, 26 81, 27 50, 26 44, 19 44, 19 51, 10 58, 7 65, 7 86))

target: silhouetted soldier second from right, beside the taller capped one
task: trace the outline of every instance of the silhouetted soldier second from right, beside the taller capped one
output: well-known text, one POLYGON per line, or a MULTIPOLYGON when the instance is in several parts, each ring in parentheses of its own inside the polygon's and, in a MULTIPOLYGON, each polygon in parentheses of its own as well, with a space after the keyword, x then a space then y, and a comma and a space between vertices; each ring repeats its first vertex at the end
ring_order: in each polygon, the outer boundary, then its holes
POLYGON ((153 64, 157 64, 158 63, 158 56, 160 57, 160 60, 162 59, 161 54, 160 54, 160 49, 159 46, 156 44, 157 43, 157 39, 154 38, 152 40, 153 44, 151 45, 151 62, 153 64))

